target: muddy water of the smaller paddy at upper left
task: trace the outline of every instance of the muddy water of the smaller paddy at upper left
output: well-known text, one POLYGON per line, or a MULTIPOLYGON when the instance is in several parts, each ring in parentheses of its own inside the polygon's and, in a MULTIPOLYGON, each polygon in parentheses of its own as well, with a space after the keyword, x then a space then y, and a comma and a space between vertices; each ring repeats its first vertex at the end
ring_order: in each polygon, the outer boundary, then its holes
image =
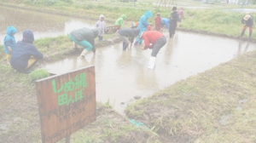
POLYGON ((76 19, 73 17, 0 6, 0 44, 3 44, 3 38, 5 37, 8 26, 15 26, 18 30, 15 38, 16 41, 20 41, 22 32, 26 29, 33 31, 35 39, 38 39, 67 35, 73 29, 81 27, 93 28, 95 23, 95 20, 76 19))

